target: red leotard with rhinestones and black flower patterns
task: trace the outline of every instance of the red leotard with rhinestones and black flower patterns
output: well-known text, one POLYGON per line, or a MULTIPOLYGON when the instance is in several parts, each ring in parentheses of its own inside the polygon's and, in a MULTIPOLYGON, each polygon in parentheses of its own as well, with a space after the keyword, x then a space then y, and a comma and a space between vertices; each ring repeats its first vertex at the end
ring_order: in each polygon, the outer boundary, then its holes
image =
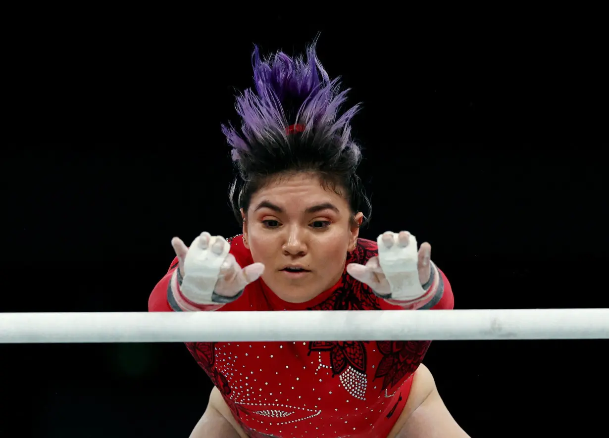
MULTIPOLYGON (((241 235, 228 239, 241 266, 253 263, 241 235)), ((378 255, 376 242, 359 239, 347 263, 378 255)), ((168 294, 169 273, 149 299, 149 311, 180 311, 168 294)), ((451 309, 448 280, 438 269, 428 308, 451 309)), ((171 290, 170 290, 171 291, 171 290)), ((333 288, 309 302, 289 303, 262 279, 228 304, 200 310, 400 310, 345 270, 333 288)), ((407 310, 405 310, 407 311, 407 310)), ((237 422, 252 438, 386 437, 404 409, 412 375, 431 341, 187 342, 186 347, 219 389, 237 422)))

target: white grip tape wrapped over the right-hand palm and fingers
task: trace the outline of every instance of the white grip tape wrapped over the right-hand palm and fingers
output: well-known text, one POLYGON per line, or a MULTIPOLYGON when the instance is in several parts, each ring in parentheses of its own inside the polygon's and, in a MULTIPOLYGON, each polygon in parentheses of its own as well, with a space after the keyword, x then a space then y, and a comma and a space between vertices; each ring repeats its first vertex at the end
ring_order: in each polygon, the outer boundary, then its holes
POLYGON ((376 239, 379 248, 379 265, 391 288, 391 298, 409 301, 423 296, 418 277, 417 238, 410 235, 408 246, 398 245, 398 233, 393 233, 393 245, 387 248, 382 234, 376 239))

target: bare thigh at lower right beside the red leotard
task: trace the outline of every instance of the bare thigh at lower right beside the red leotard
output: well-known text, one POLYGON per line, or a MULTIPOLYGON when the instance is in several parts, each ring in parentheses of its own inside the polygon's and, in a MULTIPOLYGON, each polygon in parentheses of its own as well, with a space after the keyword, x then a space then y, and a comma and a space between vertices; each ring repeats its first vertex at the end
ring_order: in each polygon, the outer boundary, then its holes
POLYGON ((421 384, 429 385, 431 391, 400 429, 395 438, 470 438, 457 424, 442 401, 434 378, 427 367, 417 370, 421 384))

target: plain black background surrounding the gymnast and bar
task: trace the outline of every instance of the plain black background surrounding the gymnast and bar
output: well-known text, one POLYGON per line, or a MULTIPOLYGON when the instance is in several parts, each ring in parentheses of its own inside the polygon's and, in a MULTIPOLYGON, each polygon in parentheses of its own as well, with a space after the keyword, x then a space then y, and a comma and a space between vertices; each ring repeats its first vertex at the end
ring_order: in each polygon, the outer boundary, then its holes
MULTIPOLYGON (((146 311, 174 235, 238 234, 219 128, 234 87, 252 85, 254 43, 294 54, 318 32, 364 103, 362 237, 430 242, 456 308, 609 307, 594 12, 222 8, 13 16, 1 311, 146 311)), ((425 363, 472 437, 587 435, 605 423, 606 350, 437 341, 425 363)), ((15 436, 186 437, 211 389, 182 344, 2 345, 0 360, 15 436)))

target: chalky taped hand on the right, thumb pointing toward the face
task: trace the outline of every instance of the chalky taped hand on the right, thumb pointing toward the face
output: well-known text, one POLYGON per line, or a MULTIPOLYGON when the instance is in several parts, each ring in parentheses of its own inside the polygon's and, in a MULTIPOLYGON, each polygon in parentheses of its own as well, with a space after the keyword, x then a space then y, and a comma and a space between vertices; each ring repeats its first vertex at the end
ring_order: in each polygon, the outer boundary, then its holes
POLYGON ((422 243, 417 253, 417 239, 407 231, 387 231, 379 235, 377 243, 379 256, 365 265, 350 263, 347 273, 380 296, 398 300, 422 296, 421 285, 431 276, 431 245, 422 243))

